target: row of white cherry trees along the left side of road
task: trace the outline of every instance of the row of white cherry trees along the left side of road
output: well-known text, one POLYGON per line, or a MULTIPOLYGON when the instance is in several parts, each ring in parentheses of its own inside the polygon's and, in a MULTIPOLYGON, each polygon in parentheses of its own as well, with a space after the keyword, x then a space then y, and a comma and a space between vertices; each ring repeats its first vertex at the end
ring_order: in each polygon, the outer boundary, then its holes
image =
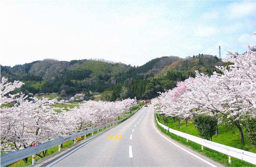
POLYGON ((74 108, 55 108, 56 99, 25 100, 22 93, 8 95, 24 83, 1 79, 1 152, 12 152, 115 121, 129 109, 131 99, 119 102, 87 101, 74 108), (56 110, 61 112, 56 112, 56 110))

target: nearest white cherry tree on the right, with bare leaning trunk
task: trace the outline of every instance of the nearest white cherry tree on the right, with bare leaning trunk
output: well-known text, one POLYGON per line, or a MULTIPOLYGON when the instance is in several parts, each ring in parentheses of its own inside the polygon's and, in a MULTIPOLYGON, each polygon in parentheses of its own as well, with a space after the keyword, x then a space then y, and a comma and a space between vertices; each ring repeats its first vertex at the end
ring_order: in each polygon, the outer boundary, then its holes
POLYGON ((227 67, 217 67, 223 75, 212 77, 220 87, 217 93, 221 96, 223 109, 220 114, 227 117, 240 132, 241 144, 244 143, 243 129, 240 119, 256 115, 256 52, 254 46, 247 45, 248 51, 244 55, 236 55, 228 51, 231 58, 223 60, 230 62, 227 67))

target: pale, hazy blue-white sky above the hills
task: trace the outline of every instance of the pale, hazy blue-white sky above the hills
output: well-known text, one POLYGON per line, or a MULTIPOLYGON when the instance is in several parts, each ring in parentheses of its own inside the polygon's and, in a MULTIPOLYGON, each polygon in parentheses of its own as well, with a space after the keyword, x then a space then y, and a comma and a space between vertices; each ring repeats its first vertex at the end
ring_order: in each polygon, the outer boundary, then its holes
POLYGON ((0 64, 226 58, 256 45, 256 1, 0 1, 0 64))

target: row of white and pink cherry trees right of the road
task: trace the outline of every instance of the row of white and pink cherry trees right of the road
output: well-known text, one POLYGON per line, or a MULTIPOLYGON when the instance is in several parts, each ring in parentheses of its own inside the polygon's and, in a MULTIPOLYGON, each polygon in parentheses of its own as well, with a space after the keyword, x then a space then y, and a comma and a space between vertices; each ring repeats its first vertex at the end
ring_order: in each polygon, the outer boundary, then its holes
POLYGON ((244 55, 227 51, 231 57, 222 61, 229 65, 216 67, 222 74, 214 72, 208 76, 196 71, 195 78, 177 83, 172 90, 159 92, 160 96, 152 99, 155 110, 186 123, 195 114, 202 113, 214 115, 219 122, 227 118, 239 129, 243 144, 240 121, 246 116, 256 117, 256 52, 254 46, 248 44, 247 47, 244 55))

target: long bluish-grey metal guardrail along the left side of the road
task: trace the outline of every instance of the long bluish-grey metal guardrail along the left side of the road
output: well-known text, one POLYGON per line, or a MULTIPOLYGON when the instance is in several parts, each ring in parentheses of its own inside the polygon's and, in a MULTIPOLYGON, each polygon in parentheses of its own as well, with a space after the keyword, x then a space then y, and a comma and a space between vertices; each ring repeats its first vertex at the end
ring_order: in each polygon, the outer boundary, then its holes
MULTIPOLYGON (((141 107, 142 106, 140 106, 140 108, 141 107)), ((25 149, 21 149, 21 150, 18 150, 18 151, 10 152, 8 154, 3 154, 3 155, 0 156, 1 166, 7 166, 9 164, 15 163, 16 161, 19 161, 19 160, 22 160, 24 158, 30 157, 31 155, 35 155, 39 152, 42 152, 42 151, 45 151, 47 149, 53 148, 53 147, 55 147, 57 145, 60 145, 62 143, 68 142, 68 141, 73 140, 73 139, 77 139, 80 136, 85 136, 86 134, 89 134, 89 133, 95 132, 97 130, 103 129, 104 127, 111 126, 115 123, 119 123, 119 122, 125 120, 130 115, 137 112, 140 108, 136 109, 134 112, 132 112, 131 114, 122 118, 121 120, 113 121, 111 123, 104 124, 104 125, 99 126, 99 127, 95 127, 93 129, 89 129, 89 130, 85 130, 83 132, 79 132, 79 133, 71 134, 69 136, 61 137, 60 139, 55 139, 55 140, 52 140, 52 141, 49 141, 49 142, 42 143, 40 145, 35 145, 35 146, 28 147, 28 148, 25 148, 25 149)))

